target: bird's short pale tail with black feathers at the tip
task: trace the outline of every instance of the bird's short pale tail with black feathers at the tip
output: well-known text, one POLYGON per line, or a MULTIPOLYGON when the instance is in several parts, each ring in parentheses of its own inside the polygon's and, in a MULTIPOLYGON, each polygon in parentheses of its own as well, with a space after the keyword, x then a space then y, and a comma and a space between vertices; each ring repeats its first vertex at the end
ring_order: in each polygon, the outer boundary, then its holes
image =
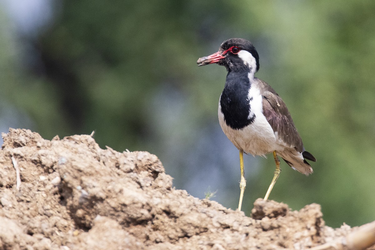
POLYGON ((298 172, 305 175, 312 174, 312 168, 310 164, 305 160, 305 158, 313 162, 315 162, 316 159, 308 151, 300 153, 297 150, 291 148, 290 150, 278 152, 278 155, 281 156, 282 159, 285 160, 285 162, 288 163, 288 165, 291 166, 294 170, 297 170, 298 172))

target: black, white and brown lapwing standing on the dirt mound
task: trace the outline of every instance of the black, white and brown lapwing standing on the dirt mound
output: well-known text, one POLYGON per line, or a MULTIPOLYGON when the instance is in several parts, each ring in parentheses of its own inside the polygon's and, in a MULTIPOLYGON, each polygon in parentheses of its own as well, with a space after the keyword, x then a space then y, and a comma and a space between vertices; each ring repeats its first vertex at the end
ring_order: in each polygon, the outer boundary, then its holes
POLYGON ((225 40, 219 51, 197 61, 198 66, 213 63, 228 71, 219 99, 218 116, 223 132, 240 152, 238 210, 241 211, 246 187, 243 153, 263 157, 273 153, 276 170, 264 200, 269 198, 281 172, 278 156, 305 175, 313 172, 306 160, 316 162, 316 159, 305 150, 284 101, 269 84, 254 76, 259 70, 259 55, 250 41, 242 38, 225 40))

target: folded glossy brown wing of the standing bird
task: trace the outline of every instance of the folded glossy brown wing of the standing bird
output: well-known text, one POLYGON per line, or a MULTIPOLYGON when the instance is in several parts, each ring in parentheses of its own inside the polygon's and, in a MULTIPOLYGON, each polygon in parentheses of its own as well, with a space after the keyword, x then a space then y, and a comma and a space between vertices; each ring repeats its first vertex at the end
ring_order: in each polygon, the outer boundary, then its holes
POLYGON ((277 132, 276 139, 287 147, 296 148, 302 153, 305 151, 302 139, 294 126, 293 119, 288 111, 287 105, 266 82, 258 79, 258 84, 263 97, 263 115, 270 123, 274 132, 277 132))

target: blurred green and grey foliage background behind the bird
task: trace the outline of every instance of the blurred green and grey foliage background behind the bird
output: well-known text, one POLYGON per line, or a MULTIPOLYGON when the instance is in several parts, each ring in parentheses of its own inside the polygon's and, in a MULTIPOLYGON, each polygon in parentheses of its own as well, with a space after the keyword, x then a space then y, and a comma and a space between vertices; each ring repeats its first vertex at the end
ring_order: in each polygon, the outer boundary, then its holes
MULTIPOLYGON (((375 1, 0 2, 0 129, 43 138, 90 134, 144 150, 178 189, 237 208, 239 157, 217 104, 226 71, 196 60, 223 40, 251 40, 257 77, 287 103, 306 177, 284 162, 270 199, 321 204, 329 226, 375 220, 375 1)), ((243 210, 265 195, 273 157, 245 156, 243 210)))

